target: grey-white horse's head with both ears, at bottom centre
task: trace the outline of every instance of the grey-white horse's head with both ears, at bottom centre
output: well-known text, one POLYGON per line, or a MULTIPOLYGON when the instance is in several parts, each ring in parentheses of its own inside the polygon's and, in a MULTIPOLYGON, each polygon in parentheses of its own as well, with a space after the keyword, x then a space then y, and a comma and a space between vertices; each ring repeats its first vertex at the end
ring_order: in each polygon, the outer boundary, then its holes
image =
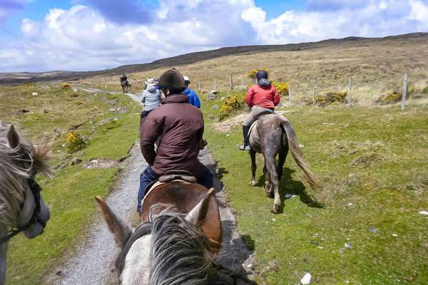
MULTIPOLYGON (((198 189, 202 187, 199 186, 198 189)), ((188 188, 182 182, 171 182, 164 187, 181 189, 183 192, 188 188)), ((168 193, 168 190, 158 192, 168 193)), ((114 214, 106 202, 96 196, 103 218, 121 248, 116 259, 118 284, 231 285, 237 284, 238 280, 239 284, 256 284, 213 261, 212 243, 208 234, 203 232, 203 224, 210 222, 210 212, 213 211, 213 192, 214 188, 208 192, 205 188, 202 199, 187 214, 178 210, 188 209, 181 204, 189 201, 193 204, 195 199, 190 195, 180 199, 180 202, 152 204, 148 212, 143 214, 146 220, 142 220, 136 229, 114 214)), ((156 196, 161 197, 160 194, 156 196)))

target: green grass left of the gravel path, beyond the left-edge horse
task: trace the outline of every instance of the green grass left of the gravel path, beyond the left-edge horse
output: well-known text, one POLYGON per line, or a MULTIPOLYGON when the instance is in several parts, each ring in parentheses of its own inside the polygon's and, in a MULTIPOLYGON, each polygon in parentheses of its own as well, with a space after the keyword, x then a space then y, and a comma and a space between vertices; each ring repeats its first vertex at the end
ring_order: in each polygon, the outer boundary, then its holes
POLYGON ((19 234, 9 242, 6 284, 41 284, 54 264, 63 262, 64 252, 84 236, 96 213, 94 196, 108 194, 118 170, 86 169, 83 163, 70 165, 71 159, 80 157, 85 162, 127 157, 138 138, 141 107, 126 95, 75 93, 59 86, 48 90, 39 86, 1 87, 0 94, 1 120, 13 123, 27 138, 51 140, 55 155, 51 164, 64 167, 58 168, 52 179, 37 178, 51 210, 44 234, 31 240, 19 234), (19 112, 22 109, 29 112, 19 112), (72 154, 63 147, 71 131, 87 142, 83 150, 72 154))

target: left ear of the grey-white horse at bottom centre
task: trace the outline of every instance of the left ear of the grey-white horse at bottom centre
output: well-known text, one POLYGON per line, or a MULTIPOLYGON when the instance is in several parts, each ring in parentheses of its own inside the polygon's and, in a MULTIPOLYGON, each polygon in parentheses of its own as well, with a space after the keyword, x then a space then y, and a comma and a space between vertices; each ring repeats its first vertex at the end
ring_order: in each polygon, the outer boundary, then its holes
POLYGON ((106 201, 98 195, 95 197, 98 206, 100 206, 101 211, 103 212, 103 218, 106 221, 108 229, 114 234, 114 240, 118 247, 123 248, 123 246, 128 241, 129 237, 134 231, 134 228, 131 227, 131 224, 125 220, 118 217, 113 211, 108 207, 106 201))

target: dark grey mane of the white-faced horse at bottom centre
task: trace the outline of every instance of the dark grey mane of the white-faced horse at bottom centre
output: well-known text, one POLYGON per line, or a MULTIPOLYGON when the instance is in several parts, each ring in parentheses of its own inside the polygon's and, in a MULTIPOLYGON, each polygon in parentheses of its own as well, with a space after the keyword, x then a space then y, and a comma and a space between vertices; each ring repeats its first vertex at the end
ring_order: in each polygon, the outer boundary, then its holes
POLYGON ((190 224, 184 214, 148 213, 148 222, 140 224, 116 260, 122 267, 131 244, 145 234, 152 234, 151 285, 183 284, 256 284, 242 274, 215 264, 205 234, 190 224))

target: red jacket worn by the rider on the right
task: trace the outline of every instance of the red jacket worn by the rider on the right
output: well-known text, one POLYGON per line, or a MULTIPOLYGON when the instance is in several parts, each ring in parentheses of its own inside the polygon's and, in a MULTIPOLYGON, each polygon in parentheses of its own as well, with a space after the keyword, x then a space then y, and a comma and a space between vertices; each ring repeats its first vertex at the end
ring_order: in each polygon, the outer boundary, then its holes
POLYGON ((280 95, 273 86, 265 87, 255 84, 248 90, 246 101, 250 107, 275 108, 280 103, 280 95))

